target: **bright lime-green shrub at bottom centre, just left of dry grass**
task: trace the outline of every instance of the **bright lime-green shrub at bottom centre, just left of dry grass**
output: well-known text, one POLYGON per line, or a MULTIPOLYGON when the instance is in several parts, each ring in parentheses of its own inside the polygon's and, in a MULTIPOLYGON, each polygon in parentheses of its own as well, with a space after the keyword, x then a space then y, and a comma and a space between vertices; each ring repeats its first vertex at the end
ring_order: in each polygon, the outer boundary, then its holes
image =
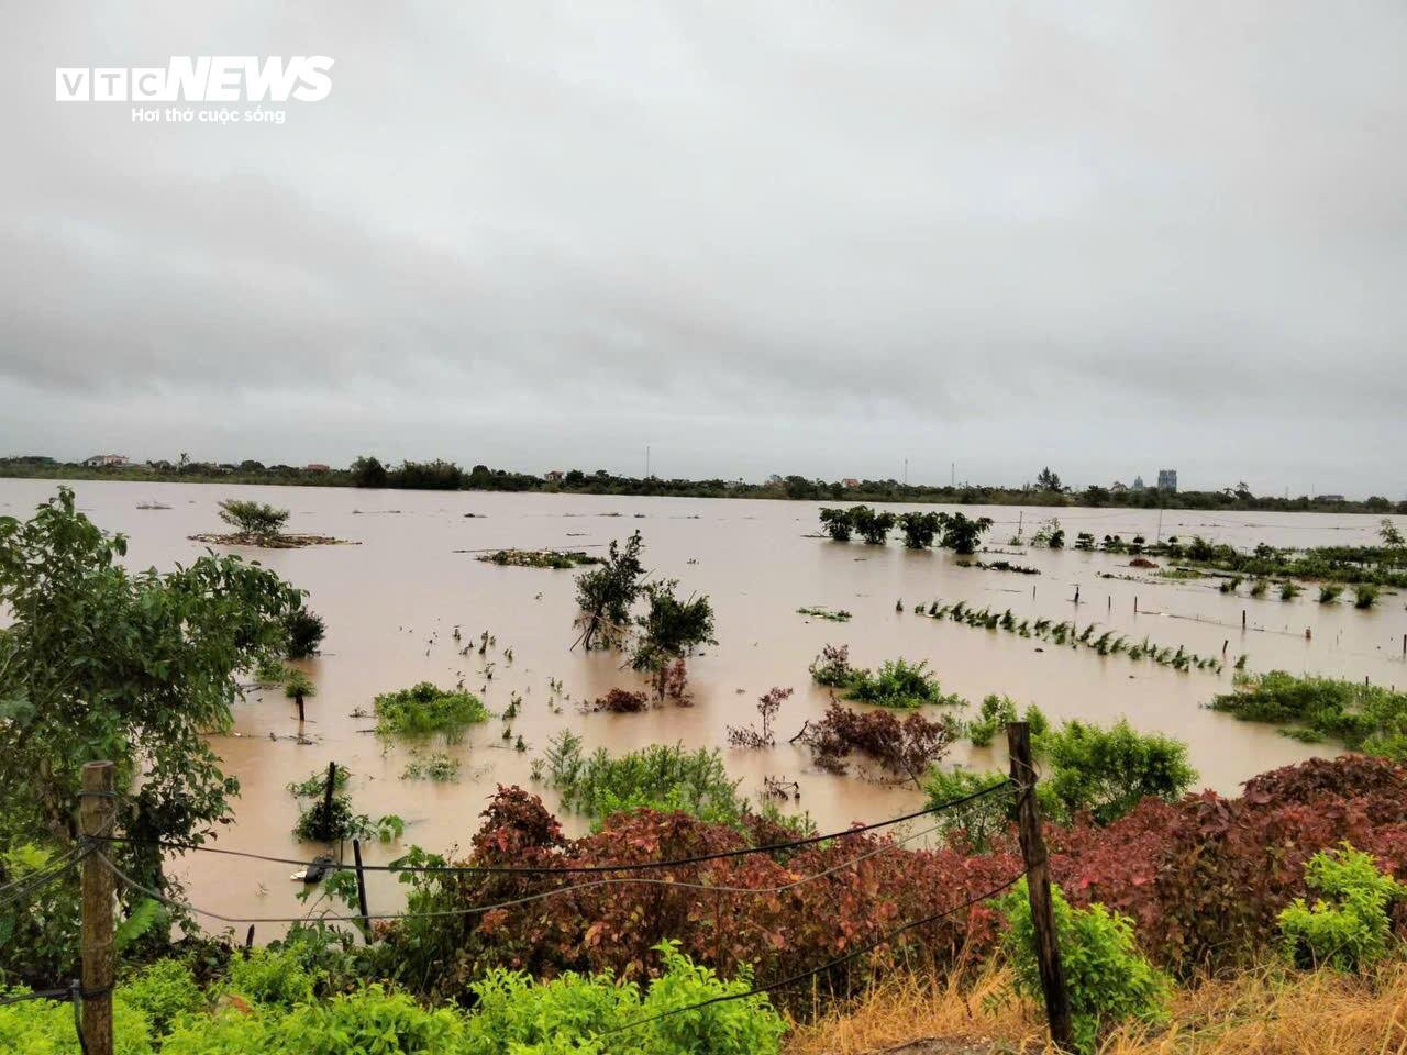
POLYGON ((678 942, 654 947, 664 972, 642 999, 633 982, 609 975, 568 972, 550 982, 526 973, 494 969, 470 985, 478 997, 467 1020, 464 1055, 554 1055, 561 1052, 640 1052, 642 1055, 775 1055, 787 1025, 765 996, 750 996, 646 1021, 667 1011, 720 996, 746 993, 751 972, 723 982, 678 950, 678 942), (598 1032, 642 1023, 633 1030, 595 1041, 598 1032), (597 1047, 597 1045, 602 1047, 597 1047), (619 1048, 616 1047, 619 1045, 619 1048))

